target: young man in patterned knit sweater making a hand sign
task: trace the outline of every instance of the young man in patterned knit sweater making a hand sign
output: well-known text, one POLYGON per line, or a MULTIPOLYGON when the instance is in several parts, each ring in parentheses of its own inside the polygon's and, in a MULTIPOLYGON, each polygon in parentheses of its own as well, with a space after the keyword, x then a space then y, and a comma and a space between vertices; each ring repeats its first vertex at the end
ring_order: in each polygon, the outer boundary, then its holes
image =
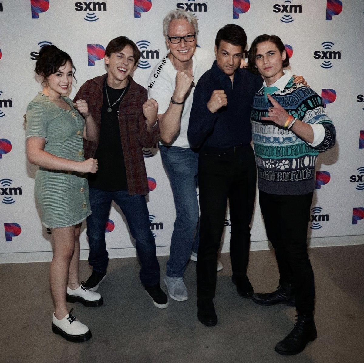
POLYGON ((296 305, 293 330, 279 342, 279 354, 293 355, 316 339, 314 277, 307 254, 307 228, 319 152, 335 144, 335 127, 322 99, 293 83, 281 39, 258 36, 249 50, 250 70, 264 78, 252 108, 252 135, 258 168, 259 203, 280 273, 277 291, 255 294, 261 305, 296 305))

